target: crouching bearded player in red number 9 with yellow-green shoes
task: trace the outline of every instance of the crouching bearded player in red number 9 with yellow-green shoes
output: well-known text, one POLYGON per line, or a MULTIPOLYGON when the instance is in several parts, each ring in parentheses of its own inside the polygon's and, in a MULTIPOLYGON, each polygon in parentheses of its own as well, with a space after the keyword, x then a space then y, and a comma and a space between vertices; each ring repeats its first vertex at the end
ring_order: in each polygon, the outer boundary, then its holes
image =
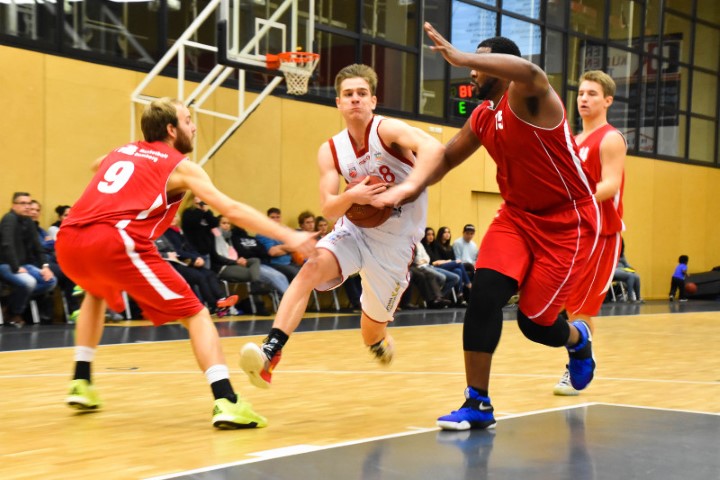
POLYGON ((196 128, 180 101, 153 101, 143 112, 141 126, 144 142, 117 148, 93 165, 93 179, 58 233, 58 261, 86 292, 76 327, 75 374, 66 401, 81 410, 100 407, 90 366, 102 336, 106 305, 122 310, 125 291, 155 325, 179 319, 188 329, 198 365, 215 397, 215 427, 264 427, 265 418, 233 391, 207 308, 162 259, 153 241, 167 229, 187 191, 233 223, 280 239, 303 254, 314 250, 314 235, 280 226, 220 192, 207 173, 185 156, 192 151, 196 128))

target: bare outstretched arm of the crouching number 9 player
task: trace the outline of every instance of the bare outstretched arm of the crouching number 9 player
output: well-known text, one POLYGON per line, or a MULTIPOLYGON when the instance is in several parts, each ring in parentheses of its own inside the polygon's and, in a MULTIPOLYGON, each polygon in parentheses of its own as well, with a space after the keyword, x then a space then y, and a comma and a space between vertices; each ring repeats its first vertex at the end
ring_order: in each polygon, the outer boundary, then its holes
POLYGON ((254 208, 228 197, 213 185, 207 172, 190 160, 180 162, 168 181, 168 196, 192 191, 235 225, 280 240, 305 256, 314 251, 316 235, 280 225, 254 208))

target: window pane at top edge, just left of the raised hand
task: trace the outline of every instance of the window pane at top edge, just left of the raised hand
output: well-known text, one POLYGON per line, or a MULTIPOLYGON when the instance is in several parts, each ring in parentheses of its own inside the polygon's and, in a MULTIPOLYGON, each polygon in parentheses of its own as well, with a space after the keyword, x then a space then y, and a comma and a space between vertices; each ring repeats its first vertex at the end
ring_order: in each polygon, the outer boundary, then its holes
POLYGON ((418 21, 414 1, 364 0, 362 18, 365 35, 400 45, 415 45, 418 21))

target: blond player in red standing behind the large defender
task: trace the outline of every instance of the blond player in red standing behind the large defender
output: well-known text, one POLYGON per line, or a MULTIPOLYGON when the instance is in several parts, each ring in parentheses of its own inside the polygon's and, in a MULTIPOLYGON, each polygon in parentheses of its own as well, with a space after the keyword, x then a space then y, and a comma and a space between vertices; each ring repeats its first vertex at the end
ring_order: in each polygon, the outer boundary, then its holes
MULTIPOLYGON (((576 287, 565 302, 570 321, 582 319, 595 333, 592 317, 600 311, 612 283, 625 229, 622 196, 625 184, 625 137, 607 122, 615 82, 605 72, 591 70, 580 77, 578 113, 583 129, 575 136, 585 170, 597 180, 595 200, 600 205, 600 235, 576 287)), ((555 395, 578 395, 566 370, 553 389, 555 395)))

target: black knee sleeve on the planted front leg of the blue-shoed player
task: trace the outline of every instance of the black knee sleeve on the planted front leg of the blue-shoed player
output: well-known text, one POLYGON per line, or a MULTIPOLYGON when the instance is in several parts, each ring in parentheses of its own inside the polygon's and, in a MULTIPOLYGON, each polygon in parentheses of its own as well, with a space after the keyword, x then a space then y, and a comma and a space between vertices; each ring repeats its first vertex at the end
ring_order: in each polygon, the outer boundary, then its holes
POLYGON ((502 307, 515 295, 517 288, 515 279, 494 270, 475 271, 470 304, 463 322, 465 351, 495 353, 502 333, 502 307))

